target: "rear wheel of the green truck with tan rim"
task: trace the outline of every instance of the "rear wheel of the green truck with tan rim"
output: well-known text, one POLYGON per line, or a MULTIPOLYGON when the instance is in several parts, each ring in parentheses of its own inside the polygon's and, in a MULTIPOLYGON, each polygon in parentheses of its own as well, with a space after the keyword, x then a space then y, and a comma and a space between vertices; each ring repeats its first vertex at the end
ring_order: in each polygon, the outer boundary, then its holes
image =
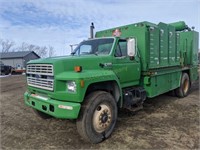
POLYGON ((189 94, 190 91, 190 78, 187 73, 183 73, 181 77, 180 87, 175 89, 176 96, 183 98, 189 94))

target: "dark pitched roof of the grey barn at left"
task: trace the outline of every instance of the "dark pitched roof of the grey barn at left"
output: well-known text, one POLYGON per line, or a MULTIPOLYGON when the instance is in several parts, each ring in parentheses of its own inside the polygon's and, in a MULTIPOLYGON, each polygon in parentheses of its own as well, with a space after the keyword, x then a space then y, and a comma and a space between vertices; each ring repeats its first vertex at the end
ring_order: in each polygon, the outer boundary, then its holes
POLYGON ((38 58, 40 58, 40 56, 38 56, 34 51, 0 53, 0 58, 23 58, 30 53, 34 53, 38 58))

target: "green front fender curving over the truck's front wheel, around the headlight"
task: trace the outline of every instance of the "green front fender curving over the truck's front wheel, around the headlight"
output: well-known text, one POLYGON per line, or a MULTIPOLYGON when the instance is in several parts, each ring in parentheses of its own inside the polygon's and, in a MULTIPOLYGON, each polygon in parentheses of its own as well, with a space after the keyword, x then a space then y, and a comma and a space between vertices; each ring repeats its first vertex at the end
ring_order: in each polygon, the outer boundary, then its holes
MULTIPOLYGON (((87 70, 82 72, 63 72, 56 76, 56 94, 63 100, 82 102, 85 97, 85 93, 89 85, 93 83, 116 81, 118 87, 120 87, 119 80, 112 70, 87 70), (67 81, 73 80, 77 84, 77 92, 69 93, 59 90, 61 83, 66 84, 67 81), (81 83, 84 82, 84 86, 81 83)), ((119 88, 120 95, 122 95, 121 88, 119 88)))

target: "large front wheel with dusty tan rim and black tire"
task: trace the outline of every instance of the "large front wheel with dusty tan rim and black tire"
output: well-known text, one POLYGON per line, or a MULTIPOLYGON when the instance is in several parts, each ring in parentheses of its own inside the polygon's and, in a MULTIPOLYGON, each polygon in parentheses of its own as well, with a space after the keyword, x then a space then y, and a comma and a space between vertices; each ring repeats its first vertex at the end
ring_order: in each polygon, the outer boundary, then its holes
POLYGON ((116 120, 117 104, 113 96, 96 91, 86 97, 76 125, 85 141, 99 143, 111 135, 116 120))

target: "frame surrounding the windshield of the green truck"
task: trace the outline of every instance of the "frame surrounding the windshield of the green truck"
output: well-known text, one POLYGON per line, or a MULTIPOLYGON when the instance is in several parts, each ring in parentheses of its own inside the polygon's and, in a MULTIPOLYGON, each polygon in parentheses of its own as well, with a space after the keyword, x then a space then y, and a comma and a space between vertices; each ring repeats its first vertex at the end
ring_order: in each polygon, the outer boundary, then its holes
POLYGON ((74 51, 71 53, 71 55, 73 55, 73 56, 89 56, 89 55, 109 56, 109 55, 111 55, 112 52, 113 52, 113 49, 114 49, 114 47, 115 47, 115 43, 116 43, 116 37, 101 37, 101 38, 93 38, 93 39, 83 40, 82 42, 80 42, 80 43, 77 45, 77 47, 74 49, 74 51), (80 47, 80 45, 81 45, 83 42, 85 42, 85 41, 92 41, 92 40, 98 40, 98 39, 113 39, 112 47, 111 47, 111 49, 110 49, 109 54, 98 54, 98 53, 97 53, 97 54, 95 54, 95 53, 93 53, 93 54, 86 54, 86 55, 76 54, 77 51, 79 50, 78 47, 80 47))

